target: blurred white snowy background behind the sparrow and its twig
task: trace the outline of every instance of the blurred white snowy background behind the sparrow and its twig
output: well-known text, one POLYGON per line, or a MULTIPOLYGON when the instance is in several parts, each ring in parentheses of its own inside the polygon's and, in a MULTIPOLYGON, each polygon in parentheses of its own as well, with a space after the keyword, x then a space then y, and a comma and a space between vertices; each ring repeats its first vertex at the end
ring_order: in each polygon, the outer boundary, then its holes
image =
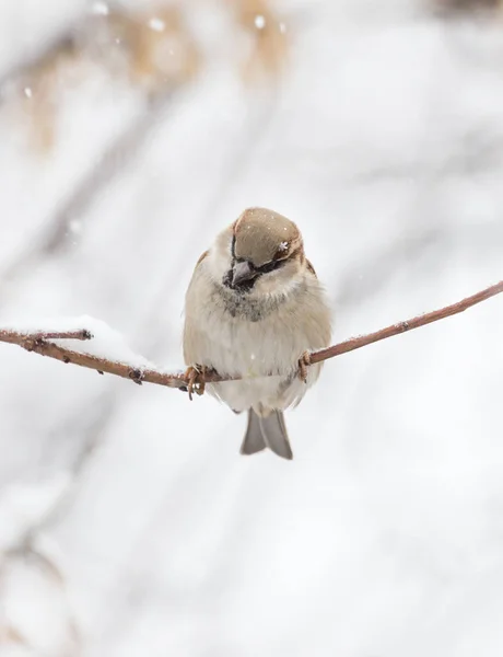
MULTIPOLYGON (((495 0, 0 1, 0 325, 179 369, 195 262, 262 205, 338 342, 502 278, 502 172, 495 0)), ((0 345, 1 657, 500 657, 502 322, 327 362, 292 463, 0 345)))

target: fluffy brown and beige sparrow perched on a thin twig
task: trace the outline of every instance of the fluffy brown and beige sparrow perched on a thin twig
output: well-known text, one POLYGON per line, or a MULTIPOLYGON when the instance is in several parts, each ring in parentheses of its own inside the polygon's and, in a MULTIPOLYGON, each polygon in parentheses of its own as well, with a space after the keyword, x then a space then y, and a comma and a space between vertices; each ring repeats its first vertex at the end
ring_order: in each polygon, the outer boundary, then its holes
POLYGON ((311 353, 330 344, 331 310, 297 226, 274 210, 245 209, 198 260, 185 298, 188 391, 247 412, 242 454, 293 458, 283 412, 318 379, 311 353), (204 387, 204 373, 238 378, 204 387))

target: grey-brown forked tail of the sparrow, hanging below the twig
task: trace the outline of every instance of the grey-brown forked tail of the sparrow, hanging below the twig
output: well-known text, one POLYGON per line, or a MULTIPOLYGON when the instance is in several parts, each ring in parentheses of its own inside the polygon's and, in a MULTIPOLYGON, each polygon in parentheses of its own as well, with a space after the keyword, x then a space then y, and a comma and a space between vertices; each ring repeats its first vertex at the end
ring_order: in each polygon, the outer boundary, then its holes
POLYGON ((266 447, 283 459, 293 459, 283 412, 271 411, 267 417, 261 417, 250 408, 241 453, 255 454, 266 447))

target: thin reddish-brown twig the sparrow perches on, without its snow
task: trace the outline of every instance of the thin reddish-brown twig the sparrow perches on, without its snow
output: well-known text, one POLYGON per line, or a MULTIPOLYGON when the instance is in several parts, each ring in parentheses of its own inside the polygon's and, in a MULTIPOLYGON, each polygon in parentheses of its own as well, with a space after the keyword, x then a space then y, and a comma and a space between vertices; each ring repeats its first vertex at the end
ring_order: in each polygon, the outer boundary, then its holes
MULTIPOLYGON (((419 328, 420 326, 431 324, 432 322, 444 320, 445 318, 464 312, 472 306, 481 303, 482 301, 486 301, 487 299, 495 297, 502 292, 503 280, 481 290, 480 292, 477 292, 476 295, 472 295, 471 297, 467 297, 457 303, 453 303, 452 306, 446 306, 440 310, 433 310, 432 312, 418 315, 410 320, 391 324, 390 326, 381 328, 381 331, 376 331, 375 333, 351 337, 326 349, 315 351, 311 355, 311 362, 321 362, 328 358, 334 358, 336 356, 347 354, 348 351, 360 349, 361 347, 365 347, 366 345, 379 342, 382 339, 387 339, 394 335, 400 335, 402 333, 407 333, 408 331, 412 331, 413 328, 419 328)), ((73 365, 86 367, 89 369, 96 370, 100 374, 104 374, 105 372, 107 374, 115 374, 116 377, 121 377, 122 379, 129 379, 139 385, 141 385, 143 382, 147 382, 155 383, 157 385, 166 385, 167 388, 186 390, 187 379, 185 373, 163 372, 162 370, 154 368, 137 367, 131 364, 110 360, 100 356, 92 356, 91 354, 75 351, 74 349, 68 349, 67 347, 62 347, 59 344, 51 342, 55 339, 87 341, 92 338, 93 335, 86 328, 71 332, 52 331, 33 333, 10 328, 0 330, 0 342, 19 345, 27 351, 35 351, 40 356, 48 356, 49 358, 55 358, 56 360, 60 360, 62 362, 72 362, 73 365)), ((217 383, 219 381, 236 380, 238 377, 229 377, 225 374, 221 376, 218 372, 207 372, 203 378, 200 378, 200 380, 202 379, 206 383, 217 383)))

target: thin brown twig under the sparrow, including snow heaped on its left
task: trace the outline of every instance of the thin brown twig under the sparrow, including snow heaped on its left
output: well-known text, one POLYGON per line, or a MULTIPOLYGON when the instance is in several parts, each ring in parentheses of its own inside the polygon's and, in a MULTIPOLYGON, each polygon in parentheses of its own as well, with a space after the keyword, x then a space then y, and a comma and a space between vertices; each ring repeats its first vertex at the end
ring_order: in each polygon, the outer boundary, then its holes
MULTIPOLYGON (((432 322, 458 314, 501 292, 503 292, 503 280, 452 306, 446 306, 440 310, 433 310, 410 320, 391 324, 374 333, 351 337, 326 349, 315 351, 311 355, 311 364, 320 362, 321 360, 360 349, 372 343, 387 339, 394 335, 400 335, 413 328, 419 328, 432 322)), ((130 351, 124 344, 121 336, 109 328, 104 322, 92 320, 91 318, 82 318, 68 322, 68 326, 61 331, 54 328, 46 331, 40 328, 23 330, 20 327, 0 328, 0 342, 17 345, 27 351, 35 351, 40 356, 48 356, 61 362, 86 367, 96 370, 100 374, 115 374, 122 379, 129 379, 138 384, 147 382, 166 385, 167 388, 178 388, 180 390, 187 389, 189 380, 186 373, 166 372, 155 368, 144 358, 130 351), (61 342, 65 343, 65 346, 61 342), (90 347, 84 348, 84 343, 89 344, 90 347), (106 356, 102 355, 102 353, 106 354, 106 356)), ((59 320, 58 323, 60 324, 61 321, 59 320)), ((229 377, 225 373, 220 374, 215 371, 207 371, 198 378, 198 383, 215 383, 236 378, 229 377)))

